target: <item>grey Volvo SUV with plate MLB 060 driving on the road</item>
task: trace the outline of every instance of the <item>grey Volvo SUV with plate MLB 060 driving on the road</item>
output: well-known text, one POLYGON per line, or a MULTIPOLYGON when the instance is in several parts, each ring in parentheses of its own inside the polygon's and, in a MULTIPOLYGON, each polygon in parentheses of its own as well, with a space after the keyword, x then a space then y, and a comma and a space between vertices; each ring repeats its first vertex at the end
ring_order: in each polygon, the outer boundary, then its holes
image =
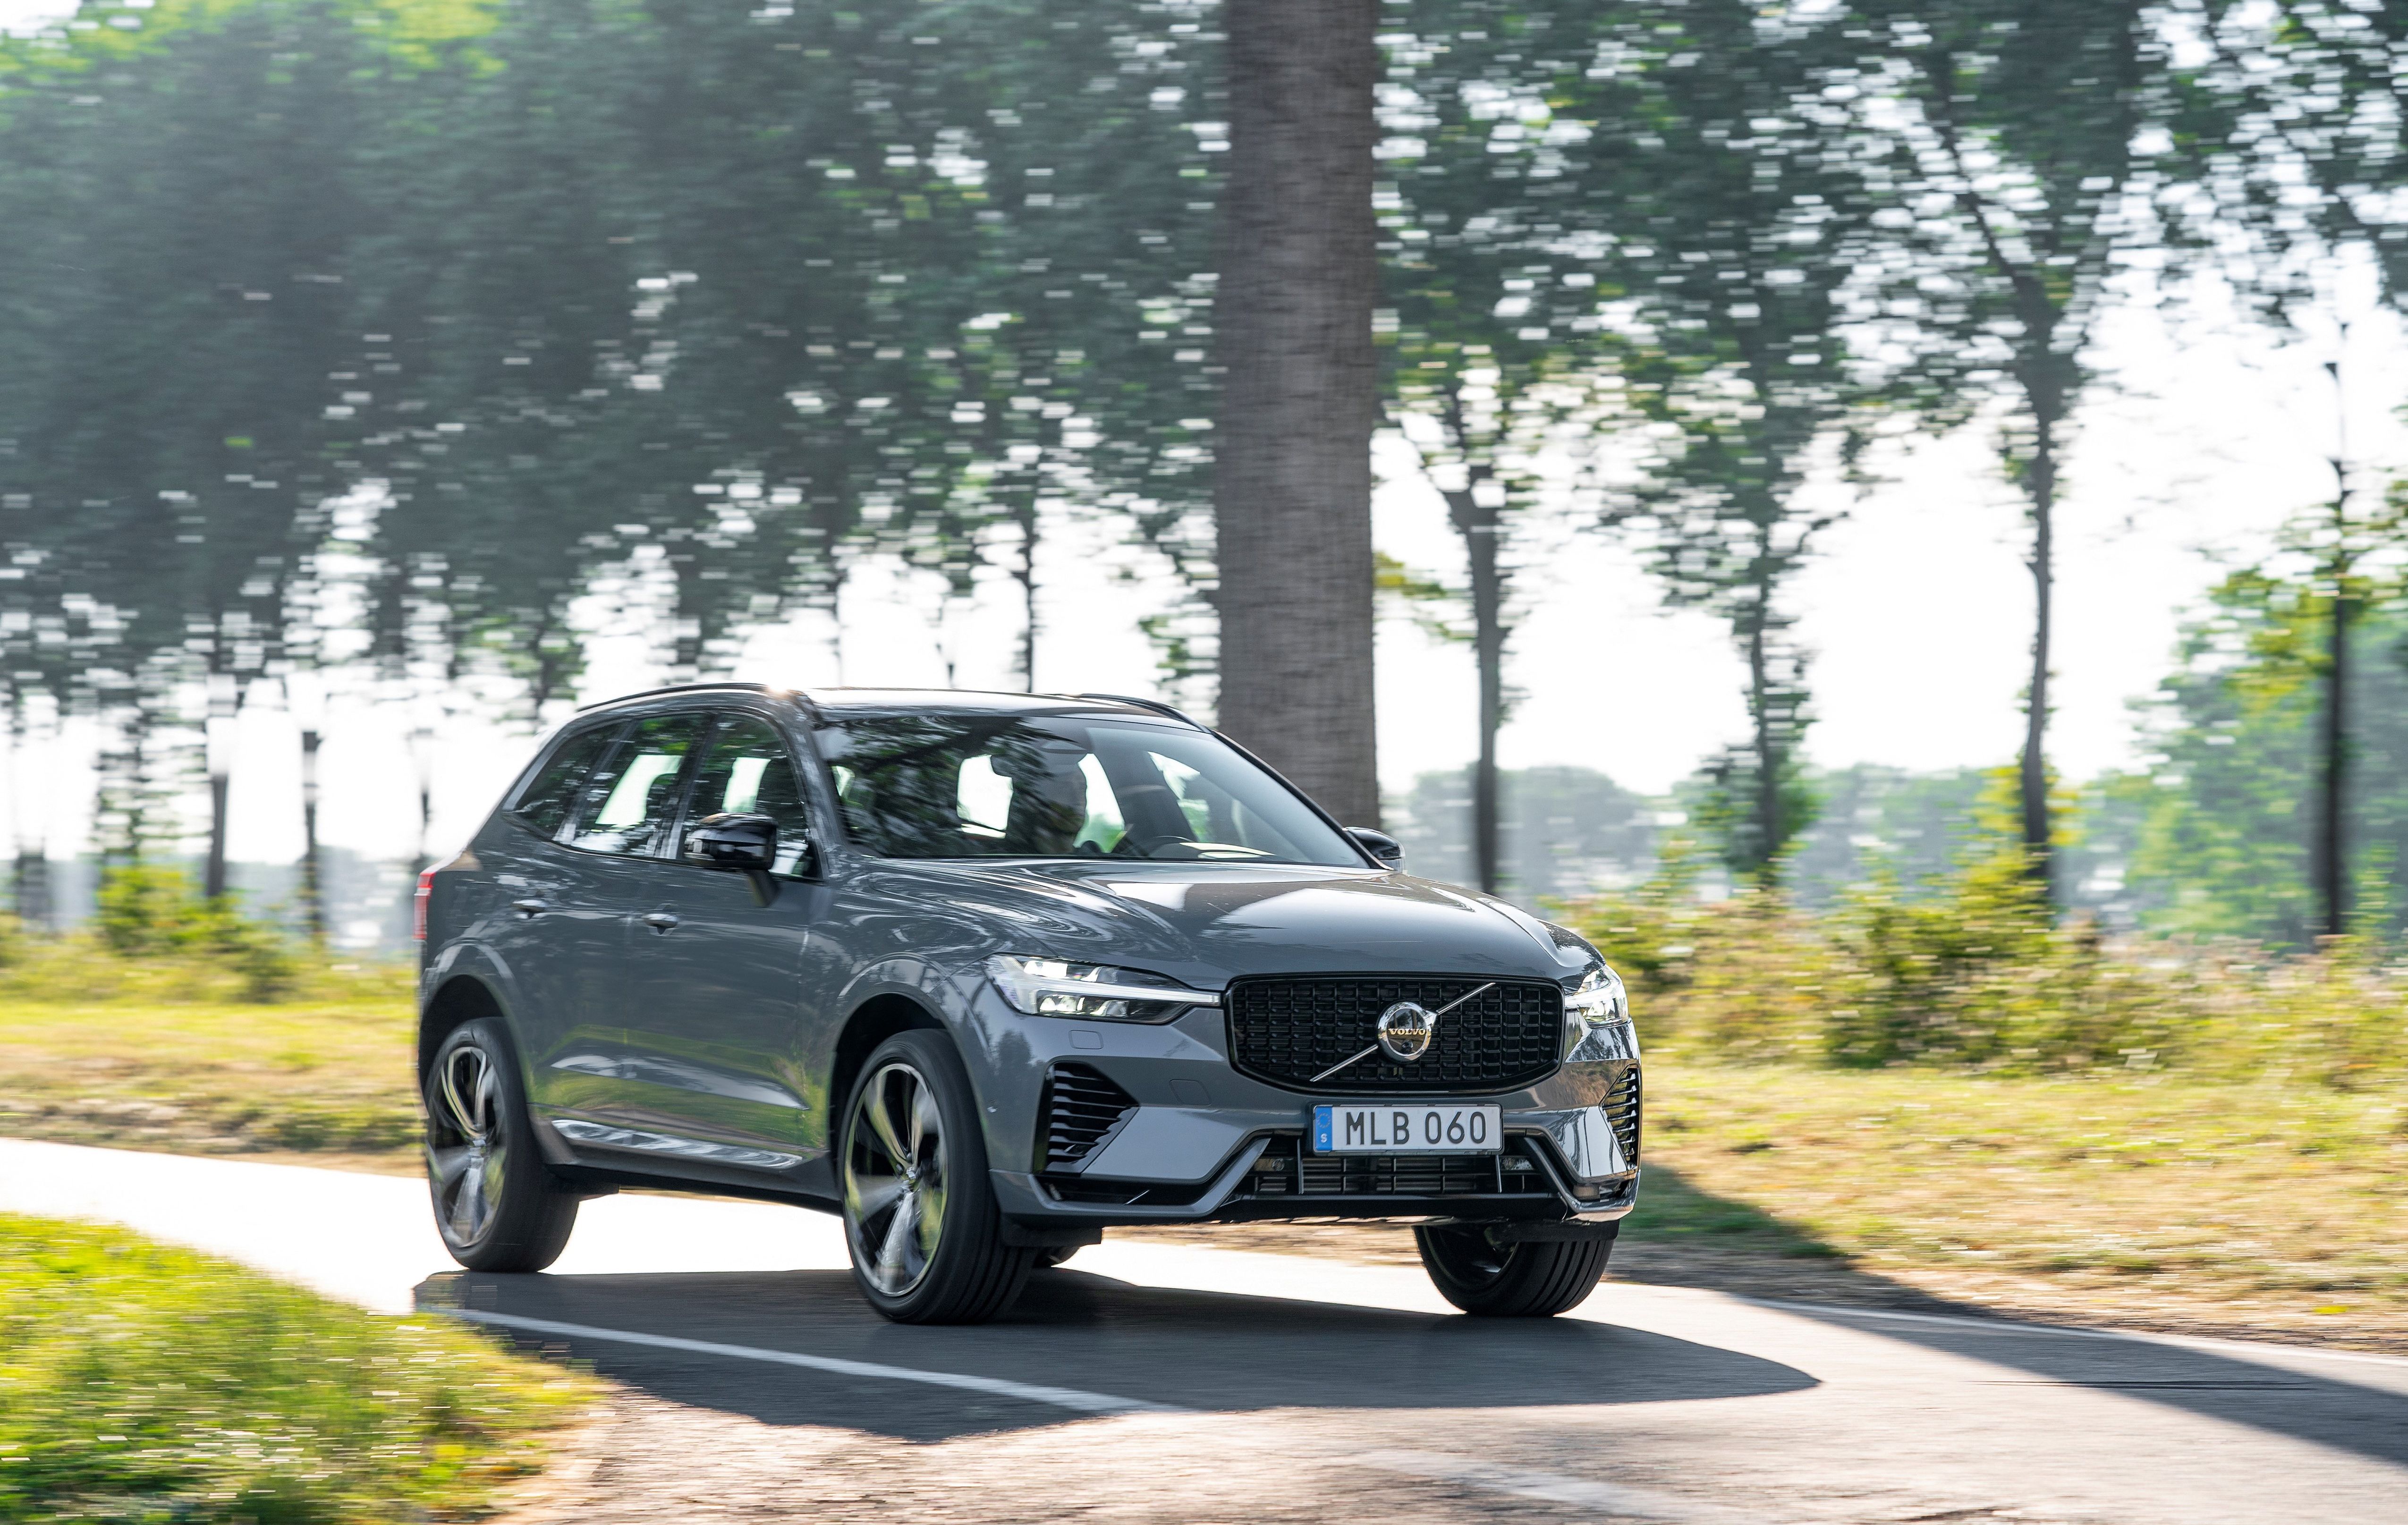
POLYGON ((619 1185, 795 1202, 934 1323, 1112 1224, 1382 1219, 1560 1313, 1637 1197, 1623 983, 1399 858, 1139 699, 580 711, 419 879, 436 1224, 542 1270, 619 1185))

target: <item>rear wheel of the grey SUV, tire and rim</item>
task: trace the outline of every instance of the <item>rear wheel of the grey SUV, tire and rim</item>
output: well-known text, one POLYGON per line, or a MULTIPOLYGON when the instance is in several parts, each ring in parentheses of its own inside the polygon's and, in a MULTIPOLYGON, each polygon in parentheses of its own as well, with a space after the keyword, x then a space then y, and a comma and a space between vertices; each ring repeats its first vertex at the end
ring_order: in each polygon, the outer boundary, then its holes
POLYGON ((426 1195, 443 1248, 474 1272, 544 1270, 578 1226, 578 1200, 535 1152, 510 1034, 494 1017, 453 1029, 426 1070, 426 1195))

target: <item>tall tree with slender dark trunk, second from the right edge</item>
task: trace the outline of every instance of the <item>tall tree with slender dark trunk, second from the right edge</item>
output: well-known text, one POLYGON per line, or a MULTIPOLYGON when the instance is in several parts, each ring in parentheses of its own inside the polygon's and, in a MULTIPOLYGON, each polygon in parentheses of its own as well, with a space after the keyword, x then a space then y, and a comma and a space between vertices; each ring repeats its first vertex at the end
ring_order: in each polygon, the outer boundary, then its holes
MULTIPOLYGON (((2160 246, 2174 34, 2153 0, 1849 0, 1825 19, 1854 58, 1825 70, 1881 152, 1893 239, 1869 275, 1926 345, 1922 376, 1999 388, 1999 460, 2032 525, 2023 846, 2049 879, 2049 663, 2056 499, 2109 282, 2160 246)), ((2186 130, 2196 130, 2189 123, 2186 130)))

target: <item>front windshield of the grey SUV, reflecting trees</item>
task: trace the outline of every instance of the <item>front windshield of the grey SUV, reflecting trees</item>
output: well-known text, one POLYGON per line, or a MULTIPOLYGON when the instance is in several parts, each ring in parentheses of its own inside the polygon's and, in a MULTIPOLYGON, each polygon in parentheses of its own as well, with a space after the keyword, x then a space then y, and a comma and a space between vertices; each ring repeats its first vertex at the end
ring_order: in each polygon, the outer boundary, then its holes
POLYGON ((845 831, 881 858, 1182 858, 1363 867, 1228 742, 1182 725, 848 716, 819 728, 845 831))

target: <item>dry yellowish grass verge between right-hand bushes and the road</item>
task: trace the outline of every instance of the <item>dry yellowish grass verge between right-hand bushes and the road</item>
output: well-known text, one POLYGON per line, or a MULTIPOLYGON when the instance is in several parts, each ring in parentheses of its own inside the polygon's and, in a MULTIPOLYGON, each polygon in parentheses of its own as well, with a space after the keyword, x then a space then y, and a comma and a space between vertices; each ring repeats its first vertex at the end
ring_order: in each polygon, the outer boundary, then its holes
POLYGON ((2408 1096, 2172 1074, 1647 1065, 1633 1238, 1941 1296, 2408 1342, 2408 1096))

